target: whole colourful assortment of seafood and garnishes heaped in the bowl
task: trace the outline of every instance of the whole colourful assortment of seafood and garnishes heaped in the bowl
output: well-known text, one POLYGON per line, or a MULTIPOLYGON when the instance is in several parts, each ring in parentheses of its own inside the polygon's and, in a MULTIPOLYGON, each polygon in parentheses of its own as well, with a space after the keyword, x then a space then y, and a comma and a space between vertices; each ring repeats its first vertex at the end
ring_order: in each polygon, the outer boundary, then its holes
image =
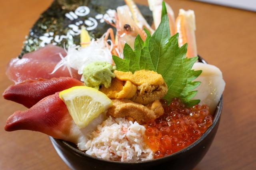
POLYGON ((193 10, 177 18, 148 0, 151 27, 132 0, 100 38, 48 44, 10 61, 4 99, 20 103, 6 131, 33 130, 103 160, 143 162, 174 154, 212 126, 225 87, 218 67, 198 62, 193 10), (114 34, 115 32, 115 34, 114 34))

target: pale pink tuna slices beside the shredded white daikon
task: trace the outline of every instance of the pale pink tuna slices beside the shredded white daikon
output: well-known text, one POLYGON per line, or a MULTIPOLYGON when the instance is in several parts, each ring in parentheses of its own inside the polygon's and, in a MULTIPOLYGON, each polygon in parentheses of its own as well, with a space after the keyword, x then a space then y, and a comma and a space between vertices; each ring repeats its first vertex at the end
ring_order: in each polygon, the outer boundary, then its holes
MULTIPOLYGON (((71 77, 68 68, 61 67, 55 73, 52 73, 54 67, 60 61, 57 51, 63 53, 62 48, 47 45, 37 51, 28 53, 22 59, 14 58, 10 61, 6 75, 16 84, 25 80, 37 80, 39 78, 51 79, 53 77, 71 77), (63 69, 64 68, 64 69, 63 69)), ((80 80, 81 75, 77 70, 71 69, 72 77, 80 80)))

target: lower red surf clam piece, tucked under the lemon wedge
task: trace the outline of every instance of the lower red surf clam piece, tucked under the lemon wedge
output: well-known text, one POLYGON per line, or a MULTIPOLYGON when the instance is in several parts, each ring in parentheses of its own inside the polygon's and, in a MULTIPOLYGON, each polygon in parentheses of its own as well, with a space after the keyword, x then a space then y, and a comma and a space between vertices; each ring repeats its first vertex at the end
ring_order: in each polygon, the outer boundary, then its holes
POLYGON ((59 93, 42 99, 26 111, 16 111, 7 119, 4 129, 38 131, 75 144, 87 140, 72 120, 59 93))

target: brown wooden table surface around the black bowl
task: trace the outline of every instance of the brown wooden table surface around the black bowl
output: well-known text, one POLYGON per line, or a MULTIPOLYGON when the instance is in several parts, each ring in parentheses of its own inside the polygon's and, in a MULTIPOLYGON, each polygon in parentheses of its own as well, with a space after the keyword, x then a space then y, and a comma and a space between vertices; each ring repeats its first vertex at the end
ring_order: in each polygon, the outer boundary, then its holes
MULTIPOLYGON (((5 75, 34 22, 52 0, 0 1, 0 92, 12 84, 5 75)), ((146 0, 138 0, 146 4, 146 0)), ((167 0, 196 13, 198 53, 224 75, 224 107, 210 150, 195 170, 256 169, 256 13, 188 0, 167 0)), ((25 107, 0 97, 0 170, 67 170, 48 136, 5 132, 6 119, 25 107)))

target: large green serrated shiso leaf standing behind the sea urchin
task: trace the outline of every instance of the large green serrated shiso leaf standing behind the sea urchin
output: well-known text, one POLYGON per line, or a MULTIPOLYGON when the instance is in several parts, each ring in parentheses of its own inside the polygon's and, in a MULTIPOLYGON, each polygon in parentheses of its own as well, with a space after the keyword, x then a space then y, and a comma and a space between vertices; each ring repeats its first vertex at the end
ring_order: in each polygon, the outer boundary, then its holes
POLYGON ((145 42, 138 35, 134 42, 134 51, 124 45, 124 59, 113 55, 116 69, 119 71, 152 70, 161 74, 168 86, 164 99, 170 103, 178 97, 187 106, 196 105, 200 100, 192 99, 197 91, 193 91, 201 82, 193 81, 202 71, 191 70, 198 57, 186 58, 187 44, 178 45, 178 33, 170 35, 168 15, 165 3, 162 3, 162 20, 154 34, 145 30, 145 42))

